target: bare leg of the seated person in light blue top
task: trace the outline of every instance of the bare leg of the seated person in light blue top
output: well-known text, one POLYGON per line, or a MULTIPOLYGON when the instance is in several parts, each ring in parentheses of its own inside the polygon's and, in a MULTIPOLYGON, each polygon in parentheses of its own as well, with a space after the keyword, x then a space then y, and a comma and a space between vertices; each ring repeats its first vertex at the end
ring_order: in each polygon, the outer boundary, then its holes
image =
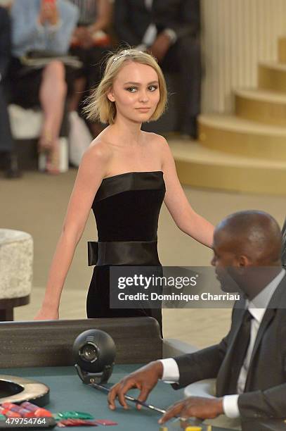
POLYGON ((58 137, 63 120, 67 84, 65 66, 61 61, 51 61, 43 70, 39 100, 44 113, 44 123, 39 139, 39 151, 48 151, 48 173, 58 173, 58 137))

